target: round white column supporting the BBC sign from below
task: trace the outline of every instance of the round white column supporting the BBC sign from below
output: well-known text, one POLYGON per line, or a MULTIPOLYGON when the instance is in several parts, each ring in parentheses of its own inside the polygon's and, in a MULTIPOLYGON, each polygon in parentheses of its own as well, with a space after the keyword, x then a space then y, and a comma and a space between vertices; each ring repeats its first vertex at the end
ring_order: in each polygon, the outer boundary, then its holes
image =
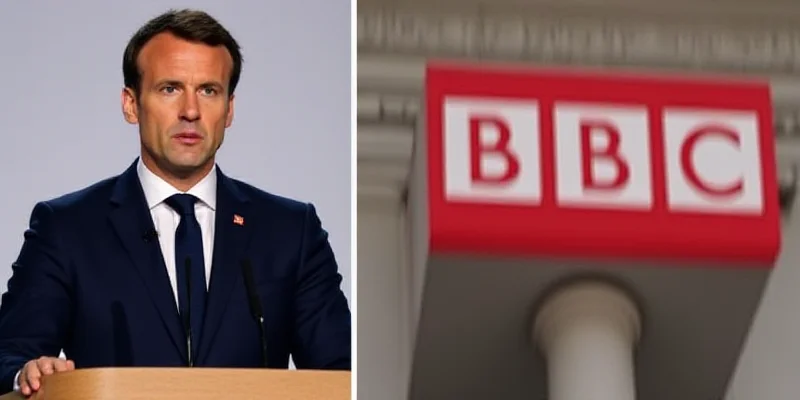
POLYGON ((565 286, 545 299, 533 330, 549 400, 636 400, 641 321, 626 293, 599 281, 565 286))

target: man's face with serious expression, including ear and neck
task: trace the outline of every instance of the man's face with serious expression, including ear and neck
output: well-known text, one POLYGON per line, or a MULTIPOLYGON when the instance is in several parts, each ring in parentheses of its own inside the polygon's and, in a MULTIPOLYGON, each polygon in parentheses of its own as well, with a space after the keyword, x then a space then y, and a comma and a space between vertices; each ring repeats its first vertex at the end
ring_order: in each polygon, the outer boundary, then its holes
POLYGON ((141 89, 123 90, 122 105, 139 125, 143 161, 179 179, 204 175, 233 120, 230 54, 163 33, 144 46, 138 66, 141 89))

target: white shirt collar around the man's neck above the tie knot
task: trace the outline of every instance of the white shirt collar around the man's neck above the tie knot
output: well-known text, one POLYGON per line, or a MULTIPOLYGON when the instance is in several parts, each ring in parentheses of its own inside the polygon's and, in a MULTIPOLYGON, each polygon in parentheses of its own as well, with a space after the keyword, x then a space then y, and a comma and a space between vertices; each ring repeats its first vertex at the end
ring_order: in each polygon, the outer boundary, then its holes
MULTIPOLYGON (((142 189, 144 190, 144 197, 147 200, 147 207, 151 210, 153 207, 164 202, 164 200, 170 196, 184 193, 178 189, 175 189, 172 185, 161 179, 158 175, 154 174, 153 171, 150 171, 150 169, 144 165, 141 158, 139 158, 139 163, 136 166, 136 170, 139 174, 139 182, 142 184, 142 189)), ((203 177, 203 179, 189 189, 189 191, 185 192, 197 197, 212 210, 217 208, 216 172, 217 166, 214 165, 214 168, 211 169, 208 175, 203 177)))

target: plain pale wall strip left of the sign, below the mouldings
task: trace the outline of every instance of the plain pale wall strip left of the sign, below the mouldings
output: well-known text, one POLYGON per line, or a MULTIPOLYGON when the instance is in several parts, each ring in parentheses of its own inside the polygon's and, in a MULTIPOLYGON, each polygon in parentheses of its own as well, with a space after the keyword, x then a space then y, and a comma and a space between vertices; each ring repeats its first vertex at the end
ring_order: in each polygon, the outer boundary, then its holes
POLYGON ((403 212, 397 199, 359 196, 359 398, 407 398, 410 271, 404 232, 403 212))

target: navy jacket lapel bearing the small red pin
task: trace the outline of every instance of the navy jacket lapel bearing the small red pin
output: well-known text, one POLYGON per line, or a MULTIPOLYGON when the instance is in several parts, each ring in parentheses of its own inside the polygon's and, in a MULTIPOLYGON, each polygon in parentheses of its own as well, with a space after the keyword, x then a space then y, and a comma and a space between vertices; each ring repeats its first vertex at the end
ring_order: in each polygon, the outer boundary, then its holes
POLYGON ((252 224, 248 224, 250 202, 236 182, 217 168, 217 210, 214 233, 214 256, 207 299, 203 335, 200 338, 198 361, 203 362, 209 346, 222 324, 231 293, 241 279, 241 263, 250 240, 252 224))

